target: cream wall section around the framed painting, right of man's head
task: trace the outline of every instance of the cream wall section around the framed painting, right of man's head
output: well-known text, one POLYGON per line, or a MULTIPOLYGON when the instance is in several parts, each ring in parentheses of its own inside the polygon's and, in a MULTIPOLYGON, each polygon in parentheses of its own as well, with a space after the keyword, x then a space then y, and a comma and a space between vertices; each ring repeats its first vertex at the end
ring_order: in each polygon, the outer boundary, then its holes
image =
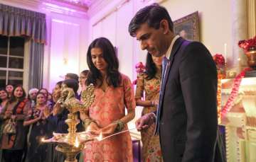
MULTIPOLYGON (((232 22, 230 0, 169 0, 162 4, 167 8, 173 21, 195 11, 199 12, 200 40, 211 54, 232 52, 232 22)), ((229 55, 229 54, 228 54, 229 55)))

